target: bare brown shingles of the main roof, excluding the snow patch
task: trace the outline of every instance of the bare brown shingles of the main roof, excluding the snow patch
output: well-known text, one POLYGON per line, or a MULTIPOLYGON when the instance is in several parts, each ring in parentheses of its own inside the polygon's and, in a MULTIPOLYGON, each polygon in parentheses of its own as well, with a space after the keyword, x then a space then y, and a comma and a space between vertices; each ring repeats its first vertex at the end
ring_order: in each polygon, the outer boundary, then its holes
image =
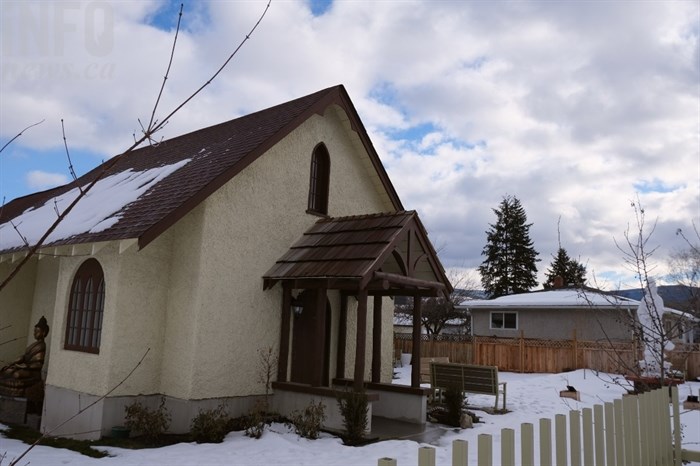
MULTIPOLYGON (((342 107, 350 118, 370 155, 377 173, 397 210, 401 201, 372 146, 357 111, 343 86, 334 86, 275 107, 237 118, 192 133, 178 136, 134 150, 122 157, 106 176, 132 169, 143 171, 174 164, 186 159, 189 163, 158 182, 136 201, 115 215, 120 220, 110 228, 96 233, 82 233, 45 246, 90 243, 107 240, 138 238, 144 247, 172 226, 215 190, 265 153, 315 113, 322 114, 331 104, 342 107)), ((65 186, 17 198, 0 212, 0 224, 8 222, 26 209, 38 207, 54 196, 84 186, 102 170, 94 170, 65 186)), ((0 251, 19 251, 25 248, 0 251)))

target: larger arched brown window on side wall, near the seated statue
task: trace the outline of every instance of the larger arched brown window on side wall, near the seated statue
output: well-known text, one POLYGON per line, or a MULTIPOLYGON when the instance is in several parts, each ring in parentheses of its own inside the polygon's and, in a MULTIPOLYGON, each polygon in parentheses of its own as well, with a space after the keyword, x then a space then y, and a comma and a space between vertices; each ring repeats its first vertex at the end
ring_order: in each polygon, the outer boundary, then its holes
POLYGON ((64 348, 88 353, 100 352, 105 280, 100 263, 88 259, 78 268, 68 301, 68 322, 64 348))

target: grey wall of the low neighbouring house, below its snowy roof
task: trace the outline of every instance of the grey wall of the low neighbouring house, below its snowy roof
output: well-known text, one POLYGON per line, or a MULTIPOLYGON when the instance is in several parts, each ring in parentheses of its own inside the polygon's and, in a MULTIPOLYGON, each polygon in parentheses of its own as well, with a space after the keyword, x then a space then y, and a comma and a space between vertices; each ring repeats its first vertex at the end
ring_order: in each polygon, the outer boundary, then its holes
POLYGON ((478 336, 569 339, 576 330, 579 340, 629 340, 626 311, 590 309, 471 309, 473 334, 478 336), (491 329, 492 311, 518 313, 518 329, 491 329))

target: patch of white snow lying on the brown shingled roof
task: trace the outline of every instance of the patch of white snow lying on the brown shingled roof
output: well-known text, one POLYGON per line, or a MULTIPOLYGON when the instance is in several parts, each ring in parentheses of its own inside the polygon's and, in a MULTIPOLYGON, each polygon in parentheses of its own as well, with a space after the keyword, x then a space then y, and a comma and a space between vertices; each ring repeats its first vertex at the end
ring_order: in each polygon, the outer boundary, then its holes
MULTIPOLYGON (((44 244, 82 233, 97 233, 113 226, 121 218, 125 207, 190 160, 143 171, 128 169, 99 180, 58 224, 44 244)), ((79 194, 80 190, 74 188, 1 224, 0 251, 22 247, 25 240, 30 245, 36 244, 56 221, 58 212, 63 212, 79 194)))

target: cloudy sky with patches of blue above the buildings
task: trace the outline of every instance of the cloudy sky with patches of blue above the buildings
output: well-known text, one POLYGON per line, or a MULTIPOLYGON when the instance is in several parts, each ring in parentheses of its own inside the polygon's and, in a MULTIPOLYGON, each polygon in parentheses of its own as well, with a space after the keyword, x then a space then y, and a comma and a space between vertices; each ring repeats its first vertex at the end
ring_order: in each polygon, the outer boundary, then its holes
MULTIPOLYGON (((161 116, 207 81, 265 1, 185 1, 161 116)), ((180 2, 0 2, 5 202, 78 175, 148 121, 180 2)), ((540 280, 561 244, 599 285, 635 286, 615 241, 632 201, 656 221, 654 273, 700 225, 698 1, 273 0, 169 138, 344 84, 404 206, 446 267, 483 257, 520 199, 540 280), (559 225, 559 226, 558 226, 559 225)))

